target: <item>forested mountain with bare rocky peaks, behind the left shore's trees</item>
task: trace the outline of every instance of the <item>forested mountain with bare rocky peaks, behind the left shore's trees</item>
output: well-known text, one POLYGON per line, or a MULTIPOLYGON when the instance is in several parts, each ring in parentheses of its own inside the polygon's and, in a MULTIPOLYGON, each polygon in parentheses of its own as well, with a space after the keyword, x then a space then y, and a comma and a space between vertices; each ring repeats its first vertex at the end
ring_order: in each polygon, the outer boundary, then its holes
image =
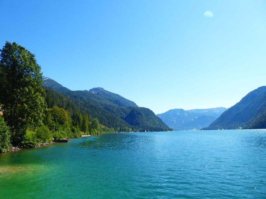
POLYGON ((42 85, 67 96, 71 103, 86 111, 92 118, 98 118, 102 125, 109 128, 129 127, 137 131, 171 130, 150 109, 138 107, 133 101, 103 88, 71 91, 48 77, 43 79, 42 85))

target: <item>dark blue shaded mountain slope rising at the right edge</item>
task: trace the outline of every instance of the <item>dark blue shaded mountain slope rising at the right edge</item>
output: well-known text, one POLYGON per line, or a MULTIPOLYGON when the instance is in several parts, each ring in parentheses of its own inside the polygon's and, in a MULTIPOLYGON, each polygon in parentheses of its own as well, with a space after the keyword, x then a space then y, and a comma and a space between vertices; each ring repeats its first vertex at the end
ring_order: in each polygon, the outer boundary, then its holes
POLYGON ((266 128, 266 86, 249 92, 210 124, 208 129, 266 128))

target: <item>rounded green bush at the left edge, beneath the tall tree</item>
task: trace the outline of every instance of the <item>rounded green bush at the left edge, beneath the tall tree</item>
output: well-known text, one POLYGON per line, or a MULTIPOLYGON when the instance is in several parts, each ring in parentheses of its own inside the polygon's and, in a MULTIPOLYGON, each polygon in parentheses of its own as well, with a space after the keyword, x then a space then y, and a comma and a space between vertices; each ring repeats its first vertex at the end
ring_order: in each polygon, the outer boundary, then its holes
POLYGON ((10 146, 10 131, 4 118, 0 115, 0 153, 10 146))

